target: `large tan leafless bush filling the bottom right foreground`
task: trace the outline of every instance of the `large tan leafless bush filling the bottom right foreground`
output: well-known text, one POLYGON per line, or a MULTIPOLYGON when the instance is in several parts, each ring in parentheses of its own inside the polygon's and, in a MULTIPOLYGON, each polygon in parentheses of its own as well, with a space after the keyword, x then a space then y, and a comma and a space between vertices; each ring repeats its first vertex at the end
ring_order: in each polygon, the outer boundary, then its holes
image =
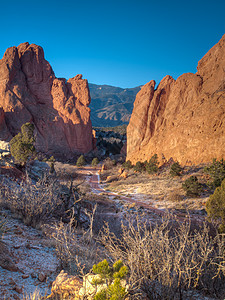
POLYGON ((105 226, 100 242, 128 266, 134 299, 137 291, 148 299, 182 299, 196 289, 224 296, 224 237, 212 238, 205 224, 193 233, 190 225, 167 218, 152 227, 137 215, 122 223, 119 239, 105 226))

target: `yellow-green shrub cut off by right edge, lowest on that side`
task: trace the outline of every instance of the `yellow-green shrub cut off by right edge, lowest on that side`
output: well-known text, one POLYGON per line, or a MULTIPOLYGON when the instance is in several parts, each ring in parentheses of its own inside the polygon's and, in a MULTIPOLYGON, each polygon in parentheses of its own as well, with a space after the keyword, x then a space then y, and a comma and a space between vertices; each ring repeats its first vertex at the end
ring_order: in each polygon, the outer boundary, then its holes
POLYGON ((206 211, 210 219, 220 223, 219 229, 225 233, 225 179, 206 202, 206 211))

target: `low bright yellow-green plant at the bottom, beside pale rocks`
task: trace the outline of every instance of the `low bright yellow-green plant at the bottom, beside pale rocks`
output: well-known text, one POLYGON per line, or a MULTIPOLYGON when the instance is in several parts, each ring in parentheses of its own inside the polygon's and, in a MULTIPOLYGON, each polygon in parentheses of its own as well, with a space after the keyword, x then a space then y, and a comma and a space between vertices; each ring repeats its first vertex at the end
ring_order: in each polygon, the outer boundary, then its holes
POLYGON ((127 275, 127 267, 124 266, 121 260, 114 263, 113 267, 109 266, 106 259, 93 266, 93 272, 99 277, 94 279, 92 284, 106 284, 94 296, 94 300, 118 299, 122 300, 127 295, 125 287, 122 286, 121 280, 127 275))

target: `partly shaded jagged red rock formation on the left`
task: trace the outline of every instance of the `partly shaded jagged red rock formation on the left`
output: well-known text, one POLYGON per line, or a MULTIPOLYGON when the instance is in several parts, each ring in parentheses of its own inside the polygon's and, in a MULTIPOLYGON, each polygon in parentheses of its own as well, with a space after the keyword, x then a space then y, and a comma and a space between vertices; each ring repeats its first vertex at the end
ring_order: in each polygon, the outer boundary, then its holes
POLYGON ((55 77, 40 46, 23 43, 0 60, 0 139, 10 140, 26 122, 36 129, 36 148, 50 154, 92 150, 87 80, 55 77))

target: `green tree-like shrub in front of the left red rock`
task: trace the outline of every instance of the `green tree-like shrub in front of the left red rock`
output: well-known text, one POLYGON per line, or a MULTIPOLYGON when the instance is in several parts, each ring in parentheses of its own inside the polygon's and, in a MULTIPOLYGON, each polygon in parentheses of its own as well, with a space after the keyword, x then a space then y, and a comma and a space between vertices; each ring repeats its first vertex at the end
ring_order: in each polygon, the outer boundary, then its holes
POLYGON ((23 124, 21 132, 10 141, 10 151, 16 162, 26 164, 28 158, 35 154, 34 142, 34 125, 23 124))

